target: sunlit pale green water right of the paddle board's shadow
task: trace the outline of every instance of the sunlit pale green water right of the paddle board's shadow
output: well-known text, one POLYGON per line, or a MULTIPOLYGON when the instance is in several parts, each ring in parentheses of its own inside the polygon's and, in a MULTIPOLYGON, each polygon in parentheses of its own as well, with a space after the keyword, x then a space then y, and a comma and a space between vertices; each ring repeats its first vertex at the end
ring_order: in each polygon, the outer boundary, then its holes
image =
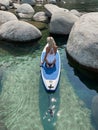
POLYGON ((68 80, 65 69, 62 68, 60 106, 57 113, 56 130, 94 130, 94 127, 91 125, 91 110, 86 108, 85 104, 81 102, 81 99, 76 95, 73 86, 68 80))

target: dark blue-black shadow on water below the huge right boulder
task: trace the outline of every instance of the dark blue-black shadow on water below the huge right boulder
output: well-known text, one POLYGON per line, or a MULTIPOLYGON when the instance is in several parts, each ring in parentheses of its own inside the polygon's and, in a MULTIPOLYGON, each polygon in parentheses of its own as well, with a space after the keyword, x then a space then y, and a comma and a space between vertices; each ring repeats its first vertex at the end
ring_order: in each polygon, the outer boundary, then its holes
POLYGON ((91 109, 91 102, 93 96, 98 92, 98 82, 93 82, 84 77, 77 69, 72 67, 67 59, 66 52, 64 67, 70 83, 72 84, 77 95, 85 102, 86 106, 91 109))

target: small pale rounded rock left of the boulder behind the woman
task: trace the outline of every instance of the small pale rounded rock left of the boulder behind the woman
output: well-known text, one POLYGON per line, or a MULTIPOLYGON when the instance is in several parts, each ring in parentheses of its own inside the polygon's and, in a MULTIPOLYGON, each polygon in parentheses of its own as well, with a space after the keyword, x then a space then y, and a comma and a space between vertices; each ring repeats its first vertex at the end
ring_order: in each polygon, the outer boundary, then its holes
POLYGON ((34 16, 33 19, 35 21, 40 21, 40 22, 45 22, 48 20, 48 17, 46 16, 45 12, 37 12, 34 16))

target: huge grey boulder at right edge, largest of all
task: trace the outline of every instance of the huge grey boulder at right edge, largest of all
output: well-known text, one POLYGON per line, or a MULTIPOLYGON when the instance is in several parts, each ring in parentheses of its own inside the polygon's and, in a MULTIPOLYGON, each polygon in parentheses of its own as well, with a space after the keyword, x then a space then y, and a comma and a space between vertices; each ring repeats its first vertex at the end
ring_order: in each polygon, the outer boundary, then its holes
POLYGON ((66 47, 70 59, 98 79, 98 13, 87 13, 74 24, 66 47), (93 75, 89 72, 94 73, 93 75))

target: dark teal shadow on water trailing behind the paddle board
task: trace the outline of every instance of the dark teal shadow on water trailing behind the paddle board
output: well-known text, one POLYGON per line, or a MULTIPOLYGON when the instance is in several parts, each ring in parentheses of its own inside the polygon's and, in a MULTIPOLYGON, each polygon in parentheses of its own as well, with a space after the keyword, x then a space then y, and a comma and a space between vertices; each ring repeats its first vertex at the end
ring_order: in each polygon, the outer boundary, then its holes
POLYGON ((44 130, 55 130, 60 104, 59 84, 55 92, 47 92, 40 76, 39 110, 44 130))

